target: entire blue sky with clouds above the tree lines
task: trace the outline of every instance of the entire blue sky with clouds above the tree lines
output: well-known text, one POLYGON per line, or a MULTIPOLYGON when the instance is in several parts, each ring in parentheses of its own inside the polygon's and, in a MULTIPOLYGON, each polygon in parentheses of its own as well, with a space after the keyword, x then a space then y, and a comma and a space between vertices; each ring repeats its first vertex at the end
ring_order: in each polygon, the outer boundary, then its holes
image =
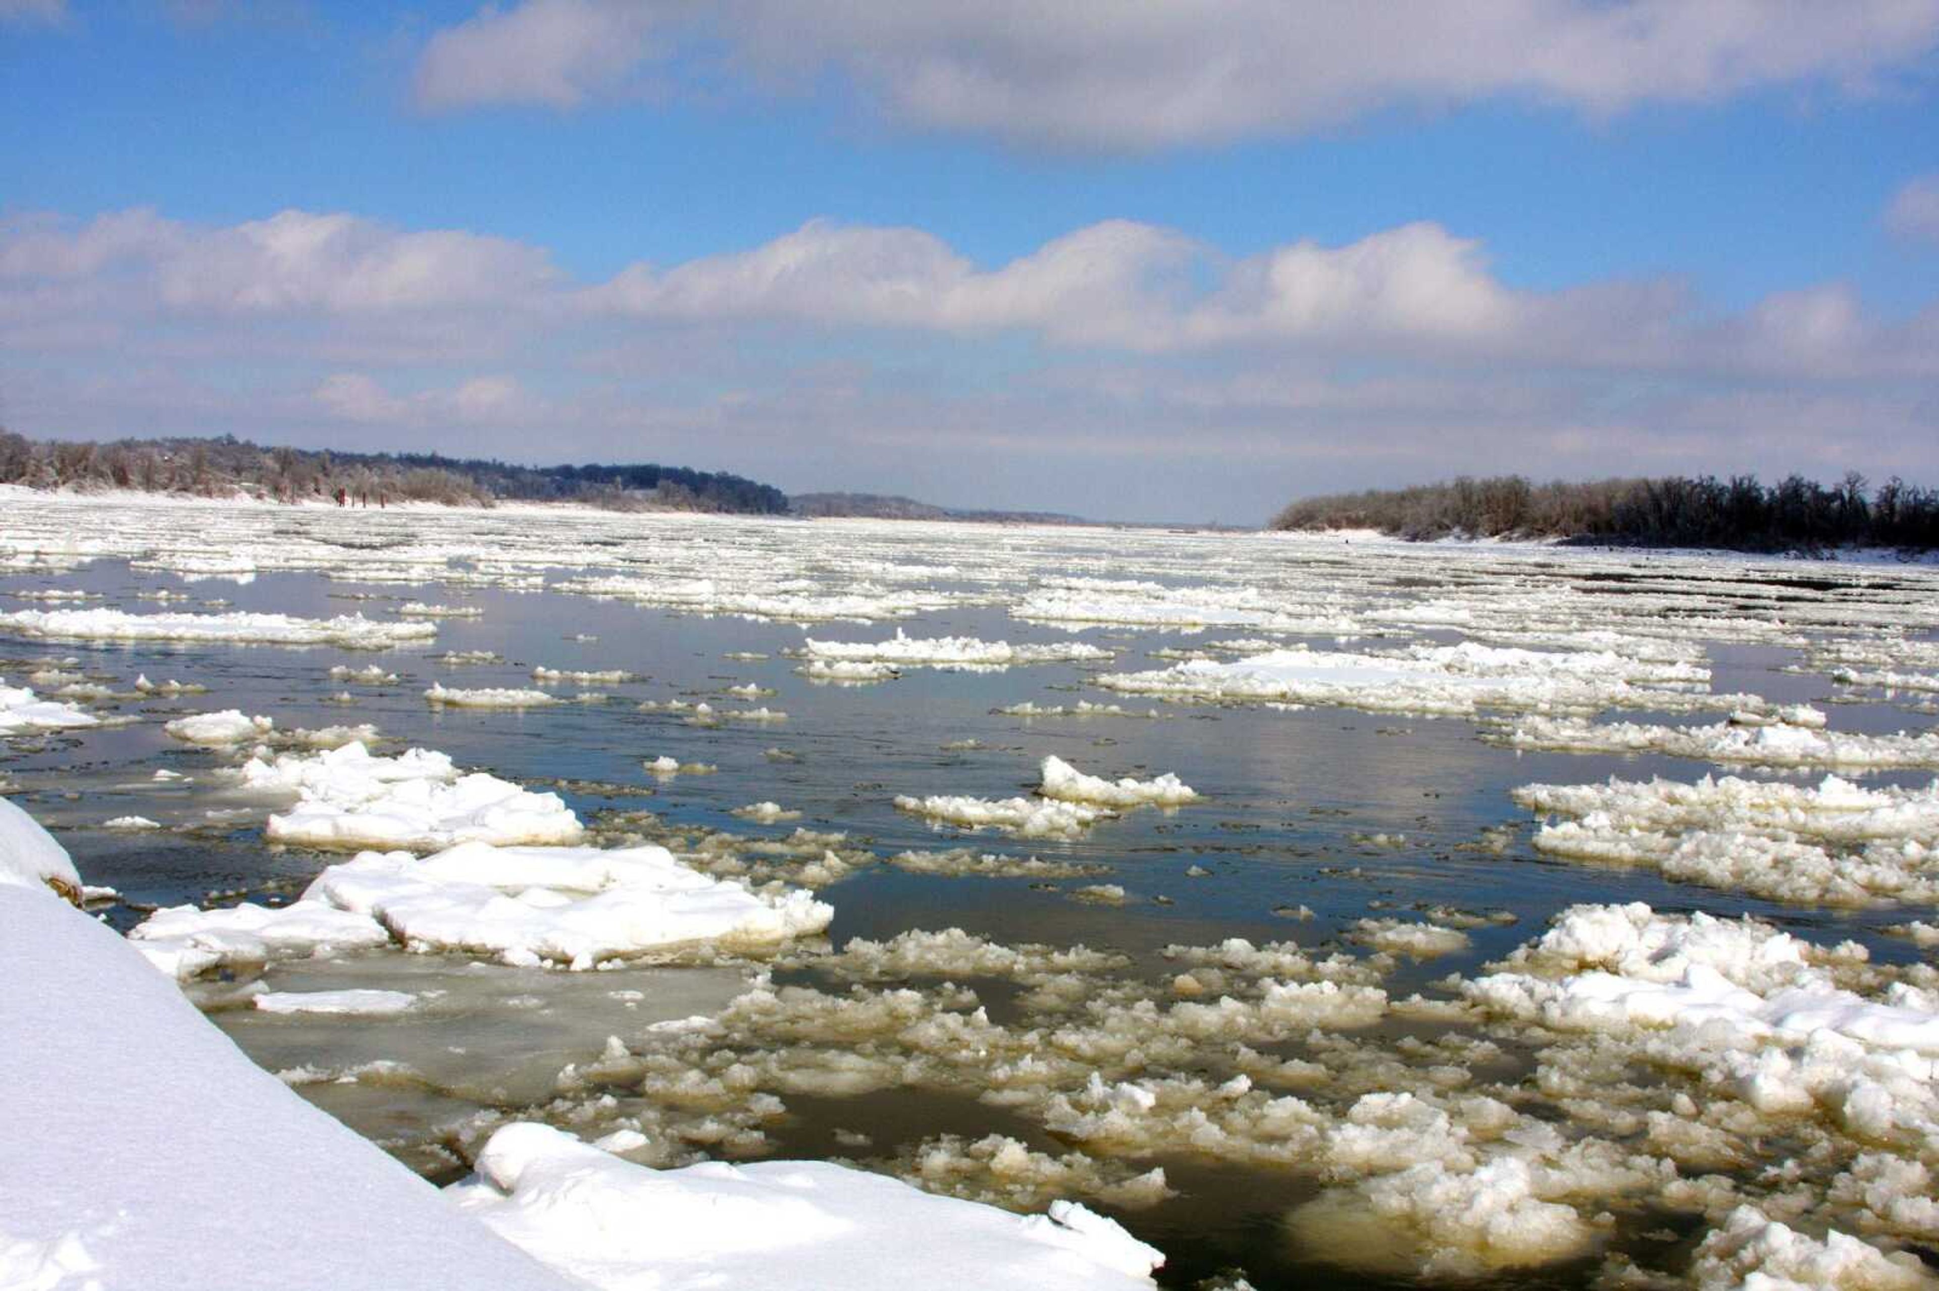
POLYGON ((1935 50, 1939 0, 0 0, 0 421, 1101 518, 1939 483, 1935 50))

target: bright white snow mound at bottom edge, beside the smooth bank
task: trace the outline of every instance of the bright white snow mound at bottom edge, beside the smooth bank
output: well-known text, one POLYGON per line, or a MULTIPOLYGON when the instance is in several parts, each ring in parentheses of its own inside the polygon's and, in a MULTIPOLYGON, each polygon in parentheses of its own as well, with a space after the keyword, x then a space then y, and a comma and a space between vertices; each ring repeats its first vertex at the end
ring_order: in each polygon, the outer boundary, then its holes
POLYGON ((1132 1291, 1163 1256, 1074 1202, 1047 1215, 919 1192, 826 1161, 632 1165, 543 1124, 508 1124, 446 1196, 593 1287, 1132 1291))

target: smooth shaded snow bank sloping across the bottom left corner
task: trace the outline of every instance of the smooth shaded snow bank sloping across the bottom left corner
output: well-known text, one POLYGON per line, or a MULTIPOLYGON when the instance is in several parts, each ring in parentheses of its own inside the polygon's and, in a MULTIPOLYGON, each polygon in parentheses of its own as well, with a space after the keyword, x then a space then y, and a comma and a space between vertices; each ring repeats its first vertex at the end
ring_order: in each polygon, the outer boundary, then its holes
MULTIPOLYGON (((6 803, 0 822, 14 843, 6 803)), ((0 1283, 566 1291, 258 1070, 122 938, 4 880, 0 973, 0 1035, 33 1037, 0 1045, 0 1283)))

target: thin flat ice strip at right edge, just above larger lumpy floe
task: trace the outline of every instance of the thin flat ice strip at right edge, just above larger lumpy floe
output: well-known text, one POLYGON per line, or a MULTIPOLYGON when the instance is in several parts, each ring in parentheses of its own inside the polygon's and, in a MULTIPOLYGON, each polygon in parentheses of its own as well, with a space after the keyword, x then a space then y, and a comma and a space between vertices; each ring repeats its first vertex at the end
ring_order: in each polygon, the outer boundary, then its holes
POLYGON ((1797 725, 1712 723, 1666 727, 1582 717, 1522 717, 1507 733, 1512 748, 1561 752, 1650 752, 1704 762, 1889 771, 1939 768, 1939 733, 1854 735, 1797 725))

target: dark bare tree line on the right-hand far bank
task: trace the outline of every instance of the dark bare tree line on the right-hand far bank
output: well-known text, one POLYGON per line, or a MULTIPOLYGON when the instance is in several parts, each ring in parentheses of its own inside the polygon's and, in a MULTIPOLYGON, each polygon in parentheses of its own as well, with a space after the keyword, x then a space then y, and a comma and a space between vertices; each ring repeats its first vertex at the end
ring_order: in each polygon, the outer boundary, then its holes
POLYGON ((1801 475, 1602 479, 1530 485, 1520 475, 1301 498, 1274 529, 1379 529, 1406 539, 1561 537, 1637 547, 1828 551, 1939 547, 1939 492, 1856 471, 1825 487, 1801 475))

